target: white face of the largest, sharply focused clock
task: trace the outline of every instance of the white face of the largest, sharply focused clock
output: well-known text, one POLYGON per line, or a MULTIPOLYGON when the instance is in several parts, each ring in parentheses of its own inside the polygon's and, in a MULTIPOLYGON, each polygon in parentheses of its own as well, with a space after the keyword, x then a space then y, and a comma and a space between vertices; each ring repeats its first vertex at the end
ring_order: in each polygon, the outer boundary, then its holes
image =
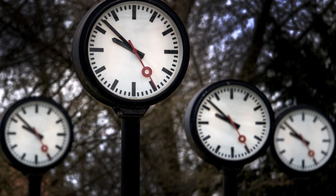
POLYGON ((181 68, 183 45, 175 23, 164 11, 149 3, 128 1, 99 16, 87 51, 92 72, 104 88, 125 99, 142 100, 172 84, 181 68))

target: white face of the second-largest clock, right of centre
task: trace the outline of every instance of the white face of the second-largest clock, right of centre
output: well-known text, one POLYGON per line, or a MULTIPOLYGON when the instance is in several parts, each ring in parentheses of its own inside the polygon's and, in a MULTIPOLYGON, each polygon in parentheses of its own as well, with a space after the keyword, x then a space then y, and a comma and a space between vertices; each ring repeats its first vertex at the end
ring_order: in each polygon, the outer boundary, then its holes
POLYGON ((201 142, 213 155, 228 161, 256 154, 265 145, 270 124, 265 102, 241 85, 225 85, 210 91, 197 111, 201 142))

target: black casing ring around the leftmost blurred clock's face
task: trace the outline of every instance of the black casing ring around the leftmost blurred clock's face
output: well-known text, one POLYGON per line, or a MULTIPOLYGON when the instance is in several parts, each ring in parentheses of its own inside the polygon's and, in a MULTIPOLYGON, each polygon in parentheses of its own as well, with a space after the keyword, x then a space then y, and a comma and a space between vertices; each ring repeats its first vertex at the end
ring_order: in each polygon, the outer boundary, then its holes
POLYGON ((1 122, 0 122, 0 144, 1 144, 1 152, 3 157, 5 158, 6 161, 9 162, 10 165, 12 165, 14 168, 16 168, 17 170, 22 171, 23 173, 27 174, 33 174, 33 173, 44 173, 47 170, 55 167, 56 165, 58 165, 60 162, 62 162, 66 156, 68 155, 68 153, 71 150, 72 147, 72 143, 73 143, 73 138, 74 138, 74 133, 73 133, 73 125, 71 123, 71 119, 68 115, 68 113, 65 111, 65 109, 60 106, 59 104, 57 104, 56 102, 54 102, 51 99, 48 99, 46 97, 27 97, 25 99, 19 100, 17 102, 15 102, 14 104, 12 104, 4 113, 3 116, 1 118, 1 122), (54 163, 44 166, 44 167, 32 167, 32 166, 28 166, 25 165, 21 162, 19 162, 18 160, 16 160, 16 158, 10 153, 8 147, 6 146, 6 142, 5 142, 5 127, 6 127, 6 123, 9 120, 9 116, 12 114, 12 112, 20 107, 22 104, 25 104, 27 102, 32 102, 32 101, 40 101, 40 102, 47 102, 48 104, 52 104, 53 106, 55 106, 57 109, 59 109, 59 111, 65 116, 65 119, 67 120, 67 123, 69 124, 69 144, 67 146, 67 149, 64 151, 64 154, 62 156, 60 156, 58 158, 57 161, 55 161, 54 163))

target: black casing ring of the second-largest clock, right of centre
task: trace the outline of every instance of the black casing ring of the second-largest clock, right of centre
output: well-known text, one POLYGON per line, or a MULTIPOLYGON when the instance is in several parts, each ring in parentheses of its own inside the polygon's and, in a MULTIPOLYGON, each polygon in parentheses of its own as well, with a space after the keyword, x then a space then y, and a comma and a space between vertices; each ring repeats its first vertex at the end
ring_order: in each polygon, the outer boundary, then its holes
POLYGON ((192 148, 195 150, 195 152, 202 157, 205 161, 215 165, 218 168, 221 167, 241 167, 256 158, 258 158, 261 154, 263 154, 270 142, 270 136, 272 135, 271 132, 274 130, 274 113, 271 108, 271 105, 269 101, 267 100, 266 96, 255 86, 244 82, 240 80, 222 80, 213 84, 210 84, 208 86, 205 86, 201 90, 199 90, 193 97, 193 99, 190 101, 186 113, 185 113, 185 120, 184 120, 184 130, 187 135, 187 139, 189 143, 191 144, 192 148), (199 107, 201 107, 202 101, 205 99, 205 97, 214 89, 226 86, 226 85, 240 85, 246 88, 249 88, 250 90, 254 91, 260 99, 265 103, 265 106, 268 111, 268 115, 270 118, 270 126, 269 126, 269 134, 266 138, 266 141, 264 145, 259 148, 258 152, 256 152, 254 155, 242 159, 242 160, 225 160, 221 159, 215 155, 213 155, 209 150, 203 145, 201 139, 198 136, 197 133, 197 125, 196 125, 196 119, 197 119, 197 111, 199 107))

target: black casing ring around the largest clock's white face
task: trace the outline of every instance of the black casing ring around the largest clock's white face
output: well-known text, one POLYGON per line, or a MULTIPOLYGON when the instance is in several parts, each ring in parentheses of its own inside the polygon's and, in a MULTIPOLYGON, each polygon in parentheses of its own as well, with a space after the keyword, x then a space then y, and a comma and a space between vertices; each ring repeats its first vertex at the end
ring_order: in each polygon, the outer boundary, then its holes
POLYGON ((148 99, 142 100, 132 100, 132 99, 125 99, 123 97, 117 96, 107 90, 105 87, 101 85, 98 79, 95 77, 93 70, 90 68, 91 65, 89 63, 88 57, 88 37, 90 32, 93 28, 94 23, 96 20, 101 16, 103 12, 105 12, 110 7, 133 0, 105 0, 93 8, 91 8, 81 19, 78 28, 76 29, 74 39, 73 39, 73 46, 72 46, 72 56, 73 56, 73 63, 75 67, 76 74, 84 86, 84 88, 98 101, 106 104, 108 106, 122 106, 122 107, 129 107, 129 108, 136 108, 136 107, 146 107, 154 105, 164 99, 166 99, 170 94, 172 94, 176 88, 181 83, 189 62, 189 55, 190 55, 190 47, 189 47, 189 40, 181 22, 180 18, 177 14, 165 3, 159 0, 137 0, 140 2, 150 3, 164 12, 166 12, 171 18, 172 21, 176 24, 177 30, 181 35, 182 45, 183 45, 183 56, 181 62, 181 68, 178 71, 176 78, 172 81, 172 83, 161 93, 150 97, 148 99))

